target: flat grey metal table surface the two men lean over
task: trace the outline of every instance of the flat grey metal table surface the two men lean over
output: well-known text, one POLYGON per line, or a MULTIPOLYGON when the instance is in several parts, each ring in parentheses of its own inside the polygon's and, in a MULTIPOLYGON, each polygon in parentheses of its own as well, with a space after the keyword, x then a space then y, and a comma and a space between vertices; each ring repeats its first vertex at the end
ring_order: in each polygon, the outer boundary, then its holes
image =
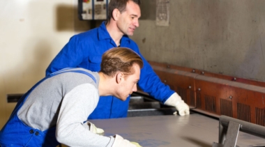
MULTIPOLYGON (((218 142, 218 119, 193 113, 189 116, 142 116, 91 120, 105 136, 119 134, 144 147, 211 147, 218 142)), ((265 139, 239 132, 237 146, 265 146, 265 139)))

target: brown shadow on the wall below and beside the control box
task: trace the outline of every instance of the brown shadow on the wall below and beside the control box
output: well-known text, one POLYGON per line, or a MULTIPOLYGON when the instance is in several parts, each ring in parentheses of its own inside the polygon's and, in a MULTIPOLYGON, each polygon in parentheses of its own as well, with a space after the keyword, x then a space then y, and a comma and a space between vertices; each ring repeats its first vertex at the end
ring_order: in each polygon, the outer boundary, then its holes
POLYGON ((84 32, 105 20, 79 20, 77 6, 59 5, 56 8, 56 30, 84 32))

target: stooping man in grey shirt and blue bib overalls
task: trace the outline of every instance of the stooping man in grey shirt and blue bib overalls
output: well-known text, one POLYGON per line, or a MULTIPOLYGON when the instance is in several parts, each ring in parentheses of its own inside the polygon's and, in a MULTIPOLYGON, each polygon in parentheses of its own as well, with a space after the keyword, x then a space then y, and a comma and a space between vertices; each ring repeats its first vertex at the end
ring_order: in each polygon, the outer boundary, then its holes
MULTIPOLYGON (((86 121, 99 96, 126 100, 137 91, 141 57, 116 47, 103 54, 100 72, 65 68, 47 75, 23 95, 0 131, 0 146, 136 147, 119 135, 105 137, 86 121)), ((103 131, 103 130, 101 130, 103 131)), ((136 144, 139 146, 139 144, 136 144)))

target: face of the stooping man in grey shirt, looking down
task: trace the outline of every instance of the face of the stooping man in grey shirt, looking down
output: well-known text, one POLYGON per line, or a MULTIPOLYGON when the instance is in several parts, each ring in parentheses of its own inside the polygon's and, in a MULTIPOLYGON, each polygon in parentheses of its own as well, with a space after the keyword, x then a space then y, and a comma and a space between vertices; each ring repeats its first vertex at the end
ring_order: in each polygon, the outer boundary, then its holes
POLYGON ((137 82, 140 78, 140 68, 139 65, 132 65, 132 70, 135 72, 132 75, 127 75, 121 78, 121 83, 119 83, 119 88, 116 89, 116 97, 120 100, 126 100, 132 92, 137 91, 137 82))

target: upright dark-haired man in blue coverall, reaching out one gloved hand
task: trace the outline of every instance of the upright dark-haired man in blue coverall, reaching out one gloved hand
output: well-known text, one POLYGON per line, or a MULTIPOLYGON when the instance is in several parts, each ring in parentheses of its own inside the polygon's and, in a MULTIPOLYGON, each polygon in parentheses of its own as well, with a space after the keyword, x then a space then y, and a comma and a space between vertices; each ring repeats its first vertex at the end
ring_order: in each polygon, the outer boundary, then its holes
MULTIPOLYGON (((139 52, 137 44, 128 36, 132 36, 139 26, 141 10, 139 0, 112 0, 109 2, 107 22, 98 28, 79 33, 70 38, 46 70, 46 75, 62 68, 86 68, 92 71, 100 70, 100 61, 103 52, 112 47, 128 47, 139 54, 144 67, 138 86, 165 105, 176 107, 181 116, 190 114, 188 105, 181 97, 163 84, 151 65, 139 52)), ((114 96, 100 98, 98 106, 89 116, 96 118, 121 118, 127 116, 130 99, 125 102, 114 96)))

